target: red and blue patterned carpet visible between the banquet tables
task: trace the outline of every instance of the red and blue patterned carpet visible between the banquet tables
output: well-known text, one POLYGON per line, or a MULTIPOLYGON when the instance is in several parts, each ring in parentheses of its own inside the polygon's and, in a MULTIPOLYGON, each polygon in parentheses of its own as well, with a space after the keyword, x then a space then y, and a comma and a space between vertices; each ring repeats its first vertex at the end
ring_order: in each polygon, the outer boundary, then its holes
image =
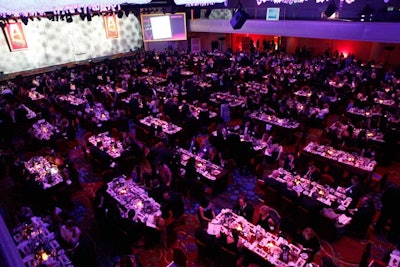
MULTIPOLYGON (((83 134, 84 130, 80 129, 77 134, 78 141, 83 141, 83 134)), ((310 134, 318 136, 320 131, 315 130, 310 134)), ((293 147, 285 147, 285 152, 290 152, 291 150, 293 150, 293 147)), ((79 142, 71 147, 69 157, 78 169, 79 181, 82 188, 73 192, 73 205, 68 210, 68 214, 75 218, 84 235, 90 238, 95 244, 99 266, 111 267, 118 257, 125 254, 137 254, 144 267, 165 267, 172 260, 172 249, 175 247, 181 248, 186 253, 189 261, 188 266, 207 266, 206 263, 197 258, 197 248, 194 243, 194 231, 198 227, 196 216, 198 203, 195 200, 185 200, 185 223, 176 226, 173 231, 175 234, 169 235, 168 249, 157 245, 150 248, 123 246, 119 240, 115 240, 115 238, 102 231, 94 220, 91 200, 96 190, 102 185, 102 181, 95 175, 90 165, 84 159, 79 142)), ((389 169, 387 167, 379 167, 377 172, 384 173, 391 170, 393 172, 391 177, 394 177, 394 182, 397 183, 399 181, 396 179, 399 179, 399 176, 396 173, 399 173, 399 166, 397 162, 394 166, 390 166, 389 169)), ((148 163, 144 162, 143 167, 149 168, 148 163)), ((270 171, 272 169, 267 169, 266 173, 270 171)), ((7 197, 10 199, 15 197, 15 195, 7 191, 7 189, 13 186, 12 180, 0 179, 0 182, 0 193, 4 193, 3 200, 5 201, 7 197)), ((226 191, 215 196, 216 211, 219 212, 222 208, 232 207, 238 196, 243 192, 247 193, 250 203, 256 207, 257 211, 262 203, 257 194, 256 177, 253 175, 242 176, 237 170, 234 172, 233 183, 228 186, 226 191)), ((379 197, 379 194, 374 195, 378 208, 379 197)), ((3 204, 5 205, 5 203, 0 204, 2 206, 3 204)), ((376 259, 382 259, 385 253, 393 249, 393 245, 387 242, 384 236, 376 235, 372 228, 368 235, 368 240, 373 244, 372 256, 376 259)), ((360 242, 357 239, 347 236, 342 237, 334 243, 322 241, 322 248, 317 253, 315 261, 319 263, 323 256, 328 256, 339 266, 355 267, 358 266, 366 244, 366 242, 360 242)))

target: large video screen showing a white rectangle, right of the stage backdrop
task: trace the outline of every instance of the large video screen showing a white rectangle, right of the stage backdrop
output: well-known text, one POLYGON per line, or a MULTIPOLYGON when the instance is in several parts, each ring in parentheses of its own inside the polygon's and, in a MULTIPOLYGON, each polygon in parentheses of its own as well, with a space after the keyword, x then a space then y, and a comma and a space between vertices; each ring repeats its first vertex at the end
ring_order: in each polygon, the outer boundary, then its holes
POLYGON ((186 14, 142 14, 144 42, 186 40, 186 14))

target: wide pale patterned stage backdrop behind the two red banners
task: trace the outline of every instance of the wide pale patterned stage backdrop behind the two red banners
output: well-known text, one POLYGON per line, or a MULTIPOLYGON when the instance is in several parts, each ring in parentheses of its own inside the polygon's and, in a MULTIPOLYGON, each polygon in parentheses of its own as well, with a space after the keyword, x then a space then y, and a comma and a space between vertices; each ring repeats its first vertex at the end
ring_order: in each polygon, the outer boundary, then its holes
POLYGON ((28 48, 14 52, 10 51, 4 32, 1 32, 0 73, 16 73, 141 48, 138 19, 133 14, 116 19, 117 38, 107 38, 102 16, 94 16, 92 21, 82 21, 79 16, 74 16, 72 23, 47 18, 29 20, 28 25, 22 24, 28 48))

